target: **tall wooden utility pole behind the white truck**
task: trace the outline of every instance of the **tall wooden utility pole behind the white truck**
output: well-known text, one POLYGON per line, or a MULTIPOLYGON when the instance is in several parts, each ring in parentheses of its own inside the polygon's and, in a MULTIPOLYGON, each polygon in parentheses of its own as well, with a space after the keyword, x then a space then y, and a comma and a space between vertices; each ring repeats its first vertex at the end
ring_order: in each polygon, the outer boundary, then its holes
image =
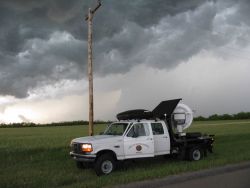
POLYGON ((96 7, 89 8, 85 20, 88 22, 88 78, 89 78, 89 136, 94 134, 94 97, 93 97, 93 57, 92 57, 92 20, 95 12, 101 6, 101 0, 97 1, 96 7))

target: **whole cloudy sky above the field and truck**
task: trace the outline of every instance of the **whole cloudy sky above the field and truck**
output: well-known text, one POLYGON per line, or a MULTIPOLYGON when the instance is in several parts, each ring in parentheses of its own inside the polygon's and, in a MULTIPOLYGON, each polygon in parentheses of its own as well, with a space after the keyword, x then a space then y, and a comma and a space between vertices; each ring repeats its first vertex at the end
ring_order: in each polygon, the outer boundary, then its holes
MULTIPOLYGON (((0 123, 88 120, 95 0, 0 2, 0 123)), ((195 116, 250 111, 250 2, 102 0, 94 119, 182 98, 195 116)))

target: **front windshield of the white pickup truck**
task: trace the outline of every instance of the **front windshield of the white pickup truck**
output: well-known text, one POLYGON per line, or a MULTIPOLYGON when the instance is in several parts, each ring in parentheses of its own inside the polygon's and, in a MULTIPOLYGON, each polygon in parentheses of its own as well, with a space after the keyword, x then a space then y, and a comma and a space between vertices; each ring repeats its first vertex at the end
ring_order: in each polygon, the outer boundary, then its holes
POLYGON ((107 127, 103 134, 122 136, 127 126, 128 123, 112 123, 107 127))

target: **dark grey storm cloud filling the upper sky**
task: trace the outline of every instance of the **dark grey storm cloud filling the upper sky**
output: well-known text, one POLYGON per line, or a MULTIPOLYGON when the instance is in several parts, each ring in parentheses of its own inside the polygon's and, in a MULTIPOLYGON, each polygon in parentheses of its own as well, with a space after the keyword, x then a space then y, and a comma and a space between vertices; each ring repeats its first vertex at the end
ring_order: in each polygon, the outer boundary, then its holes
MULTIPOLYGON (((103 0, 94 19, 96 76, 136 65, 173 69, 202 50, 249 40, 248 1, 103 0)), ((86 77, 90 0, 0 2, 0 95, 86 77)))

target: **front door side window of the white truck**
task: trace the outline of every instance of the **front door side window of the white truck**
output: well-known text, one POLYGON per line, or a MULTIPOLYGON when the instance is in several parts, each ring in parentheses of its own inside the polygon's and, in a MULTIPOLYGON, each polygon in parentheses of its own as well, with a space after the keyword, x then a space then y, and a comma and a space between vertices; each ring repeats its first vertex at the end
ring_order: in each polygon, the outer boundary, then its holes
POLYGON ((149 128, 147 124, 135 123, 129 130, 127 137, 148 136, 149 128))

